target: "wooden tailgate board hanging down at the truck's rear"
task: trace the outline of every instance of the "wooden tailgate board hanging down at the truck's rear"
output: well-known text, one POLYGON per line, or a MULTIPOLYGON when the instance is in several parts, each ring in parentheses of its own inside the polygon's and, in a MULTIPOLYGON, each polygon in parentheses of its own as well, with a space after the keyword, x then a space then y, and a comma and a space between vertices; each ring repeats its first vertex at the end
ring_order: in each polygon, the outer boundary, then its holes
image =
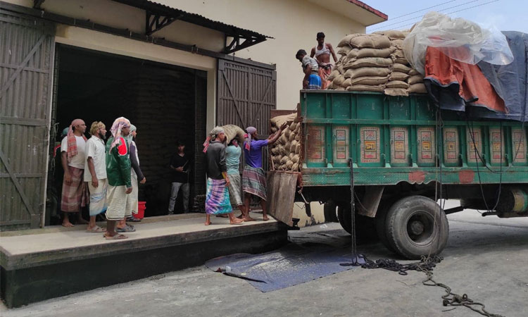
POLYGON ((294 216, 297 177, 298 173, 279 171, 268 173, 268 213, 290 227, 294 225, 291 218, 294 216))

